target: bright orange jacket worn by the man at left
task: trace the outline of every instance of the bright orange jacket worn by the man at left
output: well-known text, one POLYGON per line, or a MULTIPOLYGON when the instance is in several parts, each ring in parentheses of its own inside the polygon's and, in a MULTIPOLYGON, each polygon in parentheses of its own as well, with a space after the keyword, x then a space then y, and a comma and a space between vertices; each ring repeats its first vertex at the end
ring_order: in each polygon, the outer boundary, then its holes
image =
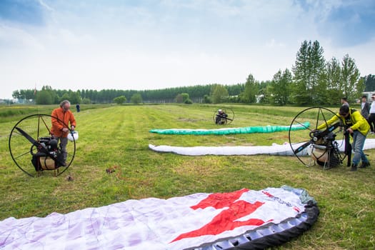
POLYGON ((76 119, 74 118, 74 114, 71 113, 70 110, 64 111, 63 108, 59 107, 52 111, 52 127, 51 127, 51 135, 56 137, 67 137, 68 133, 63 133, 62 129, 68 128, 69 129, 69 122, 70 126, 76 126, 76 119))

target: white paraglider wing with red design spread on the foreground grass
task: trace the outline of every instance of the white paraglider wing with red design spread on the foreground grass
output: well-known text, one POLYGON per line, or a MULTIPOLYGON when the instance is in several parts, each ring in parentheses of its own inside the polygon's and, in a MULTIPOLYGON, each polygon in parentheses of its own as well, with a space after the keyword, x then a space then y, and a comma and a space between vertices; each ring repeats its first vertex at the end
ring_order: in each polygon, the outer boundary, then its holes
POLYGON ((264 249, 290 241, 319 216, 304 189, 197 193, 0 221, 1 249, 264 249))

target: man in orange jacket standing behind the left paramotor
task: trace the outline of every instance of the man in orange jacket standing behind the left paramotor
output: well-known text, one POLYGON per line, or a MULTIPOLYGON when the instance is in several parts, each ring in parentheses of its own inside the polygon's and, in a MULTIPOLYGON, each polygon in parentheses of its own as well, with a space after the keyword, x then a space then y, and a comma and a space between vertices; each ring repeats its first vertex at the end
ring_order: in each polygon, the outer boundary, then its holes
POLYGON ((70 102, 68 100, 61 101, 60 107, 52 111, 52 127, 51 136, 60 141, 61 151, 64 156, 64 166, 66 166, 66 158, 68 152, 66 145, 68 144, 69 122, 71 130, 76 129, 76 119, 70 111, 70 102))

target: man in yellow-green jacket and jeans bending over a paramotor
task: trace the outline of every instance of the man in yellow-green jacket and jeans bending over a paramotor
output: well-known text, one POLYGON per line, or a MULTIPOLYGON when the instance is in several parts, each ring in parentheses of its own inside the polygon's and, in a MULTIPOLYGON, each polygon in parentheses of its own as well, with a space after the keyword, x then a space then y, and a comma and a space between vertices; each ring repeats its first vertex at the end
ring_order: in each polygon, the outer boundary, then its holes
POLYGON ((370 125, 356 109, 351 109, 349 106, 343 105, 340 107, 339 113, 329 119, 326 123, 321 124, 316 129, 325 129, 327 125, 334 124, 341 119, 348 131, 353 136, 353 151, 354 157, 351 164, 351 171, 356 171, 359 161, 362 161, 360 168, 370 166, 369 159, 364 154, 364 141, 367 133, 369 133, 370 125))

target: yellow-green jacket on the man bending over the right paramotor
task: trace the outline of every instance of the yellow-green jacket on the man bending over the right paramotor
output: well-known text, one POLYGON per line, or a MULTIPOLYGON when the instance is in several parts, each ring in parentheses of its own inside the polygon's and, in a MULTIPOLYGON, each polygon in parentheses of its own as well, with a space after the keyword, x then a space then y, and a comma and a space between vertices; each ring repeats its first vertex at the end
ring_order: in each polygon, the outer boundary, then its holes
MULTIPOLYGON (((364 136, 366 136, 366 134, 370 130, 370 125, 366 121, 366 119, 364 119, 364 116, 362 116, 359 111, 356 111, 356 109, 350 109, 350 108, 349 108, 349 114, 350 114, 351 124, 353 124, 353 125, 350 126, 351 129, 358 130, 359 132, 361 132, 361 134, 363 134, 364 136)), ((318 129, 318 130, 325 129, 326 125, 334 124, 335 121, 337 121, 339 119, 341 119, 341 121, 343 122, 343 124, 346 125, 345 119, 342 118, 339 115, 339 113, 337 113, 336 116, 334 116, 331 119, 329 119, 326 123, 321 124, 316 129, 318 129)))

